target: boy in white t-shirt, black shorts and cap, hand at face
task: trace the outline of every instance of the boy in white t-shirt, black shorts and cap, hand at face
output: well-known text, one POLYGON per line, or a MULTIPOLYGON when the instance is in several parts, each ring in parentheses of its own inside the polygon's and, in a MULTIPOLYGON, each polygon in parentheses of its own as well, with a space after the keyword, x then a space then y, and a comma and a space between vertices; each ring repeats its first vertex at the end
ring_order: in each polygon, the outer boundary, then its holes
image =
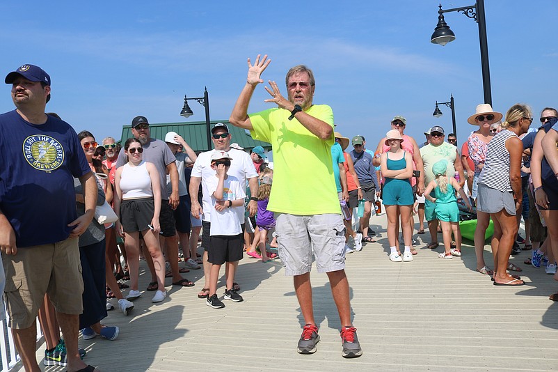
POLYGON ((207 261, 212 263, 209 273, 209 297, 207 306, 221 309, 225 304, 217 297, 217 280, 221 265, 227 265, 227 288, 225 300, 241 302, 243 298, 233 288, 235 263, 240 261, 242 252, 242 228, 244 222, 244 188, 234 176, 228 176, 232 157, 226 151, 216 150, 212 154, 212 169, 215 176, 207 180, 207 188, 212 197, 211 231, 207 261))

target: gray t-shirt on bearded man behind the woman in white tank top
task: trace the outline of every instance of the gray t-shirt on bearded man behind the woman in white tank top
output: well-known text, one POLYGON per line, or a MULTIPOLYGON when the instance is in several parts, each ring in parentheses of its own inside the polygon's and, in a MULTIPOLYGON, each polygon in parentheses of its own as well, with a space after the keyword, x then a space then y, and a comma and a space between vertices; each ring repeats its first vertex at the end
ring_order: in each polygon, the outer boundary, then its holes
MULTIPOLYGON (((176 160, 173 152, 170 151, 165 141, 160 139, 150 139, 150 141, 141 146, 143 147, 142 160, 145 162, 152 163, 157 171, 159 172, 159 180, 161 181, 161 199, 168 200, 170 195, 166 189, 166 166, 176 160)), ((126 164, 128 162, 127 156, 124 151, 120 151, 118 154, 118 160, 116 161, 116 168, 126 164)), ((182 172, 184 173, 184 172, 182 172)))

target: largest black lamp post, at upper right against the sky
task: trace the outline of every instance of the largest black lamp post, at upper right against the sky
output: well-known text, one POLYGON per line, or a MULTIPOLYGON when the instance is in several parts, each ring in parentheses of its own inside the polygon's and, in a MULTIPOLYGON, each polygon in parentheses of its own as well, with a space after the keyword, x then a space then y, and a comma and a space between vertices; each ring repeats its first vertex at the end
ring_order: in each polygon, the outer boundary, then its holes
POLYGON ((446 45, 448 42, 455 40, 454 32, 444 20, 444 13, 460 12, 469 18, 472 18, 479 24, 479 41, 481 45, 481 68, 482 68, 482 86, 484 90, 484 103, 492 105, 491 92, 491 72, 488 66, 488 41, 486 40, 486 18, 484 17, 484 0, 477 0, 472 6, 462 6, 461 8, 452 8, 443 10, 440 5, 438 10, 438 25, 434 29, 430 41, 433 44, 446 45))

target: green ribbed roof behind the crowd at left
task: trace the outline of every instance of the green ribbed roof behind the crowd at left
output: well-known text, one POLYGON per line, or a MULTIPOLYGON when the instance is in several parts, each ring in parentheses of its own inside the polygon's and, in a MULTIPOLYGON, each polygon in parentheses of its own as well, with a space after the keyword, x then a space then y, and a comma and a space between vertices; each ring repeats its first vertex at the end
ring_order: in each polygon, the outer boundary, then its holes
MULTIPOLYGON (((225 123, 229 132, 232 135, 231 142, 237 143, 239 146, 244 147, 245 150, 250 151, 255 146, 262 146, 266 150, 271 150, 271 144, 252 139, 250 133, 239 127, 235 127, 228 121, 211 121, 211 127, 216 123, 225 123)), ((152 138, 165 140, 165 135, 168 132, 177 132, 184 138, 187 144, 190 145, 192 150, 196 152, 207 150, 207 125, 205 121, 192 121, 184 123, 153 123, 149 125, 150 135, 152 138)), ((127 139, 132 137, 131 125, 124 125, 122 127, 121 143, 124 144, 127 139)), ((212 144, 213 148, 213 144, 212 144)))

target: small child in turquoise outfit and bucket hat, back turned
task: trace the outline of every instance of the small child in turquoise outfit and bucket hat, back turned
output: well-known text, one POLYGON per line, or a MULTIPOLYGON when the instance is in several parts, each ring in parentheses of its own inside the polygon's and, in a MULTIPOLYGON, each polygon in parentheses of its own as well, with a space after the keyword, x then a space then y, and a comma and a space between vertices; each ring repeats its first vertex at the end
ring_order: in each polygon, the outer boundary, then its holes
POLYGON ((456 179, 446 176, 447 173, 447 160, 440 160, 432 166, 432 173, 436 179, 428 184, 427 189, 424 190, 424 196, 436 203, 436 216, 442 224, 442 233, 444 237, 445 252, 440 253, 440 258, 453 258, 453 256, 461 256, 461 232, 459 231, 459 208, 457 207, 457 199, 455 192, 459 192, 463 201, 469 210, 472 210, 469 198, 465 191, 459 186, 456 179), (431 196, 431 192, 434 196, 431 196), (456 247, 450 249, 452 244, 452 231, 455 236, 456 247))

